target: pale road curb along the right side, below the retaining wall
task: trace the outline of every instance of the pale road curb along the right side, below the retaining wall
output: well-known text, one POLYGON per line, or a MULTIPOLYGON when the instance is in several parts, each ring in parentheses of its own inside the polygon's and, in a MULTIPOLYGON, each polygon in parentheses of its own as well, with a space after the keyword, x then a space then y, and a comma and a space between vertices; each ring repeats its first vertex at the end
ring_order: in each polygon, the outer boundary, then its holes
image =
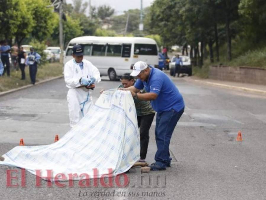
POLYGON ((195 82, 199 82, 202 84, 207 84, 207 85, 212 85, 212 86, 218 86, 218 87, 223 87, 223 88, 228 88, 228 89, 237 89, 237 90, 242 90, 242 91, 246 91, 246 92, 254 92, 254 93, 259 93, 259 94, 264 94, 266 95, 266 91, 265 90, 260 90, 260 89, 252 89, 252 88, 248 88, 248 87, 239 87, 239 86, 233 86, 233 85, 227 85, 227 84, 221 84, 221 83, 214 83, 214 82, 210 82, 210 81, 202 81, 202 80, 198 80, 198 79, 184 79, 186 81, 195 81, 195 82))

